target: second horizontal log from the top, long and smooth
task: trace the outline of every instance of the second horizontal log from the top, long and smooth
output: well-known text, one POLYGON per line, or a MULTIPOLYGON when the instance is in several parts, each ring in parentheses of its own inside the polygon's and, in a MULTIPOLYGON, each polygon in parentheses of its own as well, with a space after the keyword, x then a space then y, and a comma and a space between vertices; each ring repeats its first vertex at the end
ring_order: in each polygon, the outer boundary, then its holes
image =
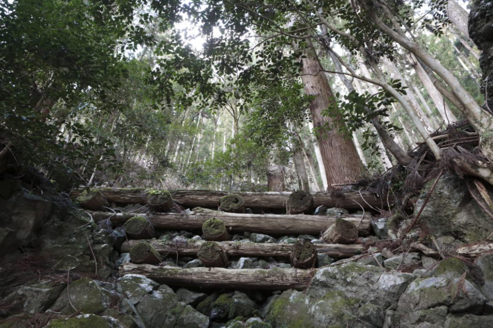
MULTIPOLYGON (((123 225, 134 216, 131 213, 88 212, 95 221, 109 219, 114 226, 123 225)), ((200 209, 192 214, 161 213, 139 214, 150 220, 156 229, 168 230, 201 230, 202 224, 211 218, 224 222, 228 231, 254 232, 267 235, 302 235, 318 236, 322 230, 335 222, 335 217, 318 215, 285 215, 285 214, 242 214, 225 213, 200 209)), ((344 220, 358 225, 361 236, 367 236, 370 231, 370 216, 344 216, 344 220), (361 222, 360 222, 361 221, 361 222)))

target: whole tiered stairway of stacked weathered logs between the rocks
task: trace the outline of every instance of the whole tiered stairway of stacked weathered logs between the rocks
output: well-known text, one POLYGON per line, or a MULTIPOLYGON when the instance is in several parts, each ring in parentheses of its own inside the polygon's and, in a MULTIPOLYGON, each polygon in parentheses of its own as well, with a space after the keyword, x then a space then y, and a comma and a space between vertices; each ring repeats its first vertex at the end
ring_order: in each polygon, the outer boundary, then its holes
MULTIPOLYGON (((127 204, 146 204, 145 194, 140 189, 96 189, 99 195, 103 195, 108 203, 116 205, 127 204)), ((182 210, 186 207, 201 206, 217 209, 221 197, 226 193, 218 191, 170 191, 175 203, 180 205, 178 213, 157 213, 146 211, 146 213, 117 213, 113 209, 109 211, 89 211, 86 212, 96 222, 106 221, 113 227, 125 225, 128 220, 139 216, 148 223, 148 231, 143 234, 132 235, 126 232, 126 241, 121 245, 120 253, 130 252, 135 246, 145 243, 145 259, 133 261, 120 266, 120 276, 127 274, 144 275, 158 283, 169 286, 200 287, 200 288, 223 288, 223 289, 265 289, 265 290, 303 290, 308 287, 311 277, 317 270, 317 254, 326 254, 331 258, 343 259, 357 256, 365 252, 366 248, 361 245, 359 237, 371 234, 371 210, 384 208, 383 201, 373 194, 363 193, 314 193, 309 204, 309 211, 306 214, 248 214, 248 213, 228 213, 215 211, 206 208, 192 208, 192 210, 182 210), (317 206, 326 208, 335 207, 345 208, 346 210, 361 210, 362 213, 344 214, 338 216, 313 215, 313 210, 317 206), (159 240, 159 231, 189 231, 200 235, 204 224, 210 219, 219 220, 225 228, 223 239, 210 242, 202 239, 188 239, 175 237, 172 240, 159 240), (358 236, 356 242, 337 244, 327 243, 324 231, 336 222, 344 221, 354 227, 355 234, 358 236), (229 233, 257 233, 268 236, 300 236, 313 235, 320 237, 320 241, 303 241, 297 239, 294 244, 287 243, 257 243, 245 241, 231 241, 229 233), (359 243, 358 243, 359 241, 359 243), (148 245, 148 246, 147 246, 148 245), (217 259, 207 262, 200 258, 202 249, 209 247, 220 253, 217 259), (296 248, 298 249, 296 251, 296 248), (299 250, 303 253, 303 248, 311 252, 307 259, 299 257, 299 250), (155 252, 155 253, 153 253, 155 252), (168 265, 163 262, 166 257, 173 257, 178 262, 178 258, 198 257, 204 266, 198 268, 180 268, 168 265), (255 257, 260 259, 283 259, 279 261, 289 261, 293 266, 291 269, 271 267, 267 269, 228 269, 227 263, 238 257, 255 257), (156 260, 157 259, 157 260, 156 260), (144 262, 144 263, 141 263, 144 262)), ((73 197, 80 196, 81 190, 73 190, 73 197)), ((243 198, 244 207, 268 210, 288 209, 290 193, 238 193, 239 198, 243 198)), ((236 195, 235 195, 236 196, 236 195)), ((311 195, 310 195, 311 196, 311 195)), ((386 202, 386 200, 385 200, 386 202)), ((107 204, 108 205, 108 204, 107 204)), ((81 203, 84 207, 84 204, 81 203)), ((91 206, 94 209, 94 206, 91 206)), ((101 210, 108 207, 101 206, 101 210)), ((145 210, 145 207, 143 208, 145 210)), ((171 210, 173 211, 173 210, 171 210)), ((289 209, 287 210, 289 212, 289 209)), ((202 234, 205 236, 205 234, 202 234)), ((357 237, 355 236, 355 237, 357 237)), ((210 239, 209 239, 210 240, 210 239)), ((136 251, 135 251, 136 252, 136 251)), ((202 253, 203 254, 203 253, 202 253)), ((304 255, 303 255, 304 256, 304 255)))

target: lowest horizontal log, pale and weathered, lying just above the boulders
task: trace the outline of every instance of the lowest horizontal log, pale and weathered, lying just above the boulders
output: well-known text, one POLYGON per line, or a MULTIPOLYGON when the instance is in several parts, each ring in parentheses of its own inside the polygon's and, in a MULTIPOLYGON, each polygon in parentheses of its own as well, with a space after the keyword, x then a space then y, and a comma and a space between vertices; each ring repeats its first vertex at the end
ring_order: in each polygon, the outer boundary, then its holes
POLYGON ((190 268, 170 266, 156 267, 148 264, 124 264, 119 268, 124 275, 143 275, 168 286, 228 288, 228 289, 270 289, 298 291, 308 287, 313 275, 311 270, 301 269, 223 269, 190 268))

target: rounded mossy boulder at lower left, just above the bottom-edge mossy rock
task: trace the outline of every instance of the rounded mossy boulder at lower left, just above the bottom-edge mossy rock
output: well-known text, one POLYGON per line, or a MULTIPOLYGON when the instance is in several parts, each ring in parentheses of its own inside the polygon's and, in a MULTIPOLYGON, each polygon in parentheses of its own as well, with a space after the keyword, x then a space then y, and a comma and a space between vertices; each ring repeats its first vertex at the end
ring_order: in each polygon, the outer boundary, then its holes
POLYGON ((92 279, 85 277, 71 282, 68 291, 65 288, 61 292, 50 310, 63 315, 71 315, 76 311, 97 315, 106 309, 110 300, 111 294, 108 291, 100 288, 92 279), (67 295, 70 297, 71 304, 68 302, 67 295))

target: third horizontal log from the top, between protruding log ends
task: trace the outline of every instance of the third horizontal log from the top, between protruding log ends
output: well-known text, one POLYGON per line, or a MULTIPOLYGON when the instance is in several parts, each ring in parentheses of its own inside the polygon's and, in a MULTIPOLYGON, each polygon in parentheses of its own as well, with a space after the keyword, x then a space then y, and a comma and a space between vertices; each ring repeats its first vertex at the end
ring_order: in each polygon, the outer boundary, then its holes
MULTIPOLYGON (((121 245, 121 253, 128 253, 130 248, 143 240, 129 240, 121 245)), ((196 255, 203 240, 179 239, 177 241, 146 240, 160 254, 176 254, 180 256, 196 255)), ((251 257, 289 257, 292 244, 266 244, 266 243, 241 243, 241 242, 217 242, 228 256, 251 257)), ((318 254, 327 254, 333 258, 349 258, 364 251, 362 245, 342 244, 315 244, 318 254)))

